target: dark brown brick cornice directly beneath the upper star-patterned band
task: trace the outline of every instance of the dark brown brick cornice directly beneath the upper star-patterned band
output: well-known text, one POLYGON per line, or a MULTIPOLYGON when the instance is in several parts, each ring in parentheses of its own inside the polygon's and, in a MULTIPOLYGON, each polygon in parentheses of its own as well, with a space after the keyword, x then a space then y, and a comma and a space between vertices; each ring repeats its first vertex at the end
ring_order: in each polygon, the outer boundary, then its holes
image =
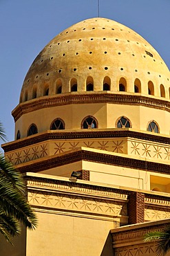
POLYGON ((127 158, 125 156, 117 156, 113 154, 104 154, 92 152, 85 149, 79 149, 60 156, 52 156, 44 160, 34 161, 26 165, 17 166, 20 172, 42 172, 54 167, 75 163, 78 161, 90 161, 94 163, 103 163, 105 165, 117 165, 121 167, 134 168, 134 170, 145 170, 149 172, 159 172, 169 174, 169 165, 162 163, 154 163, 140 159, 127 158))

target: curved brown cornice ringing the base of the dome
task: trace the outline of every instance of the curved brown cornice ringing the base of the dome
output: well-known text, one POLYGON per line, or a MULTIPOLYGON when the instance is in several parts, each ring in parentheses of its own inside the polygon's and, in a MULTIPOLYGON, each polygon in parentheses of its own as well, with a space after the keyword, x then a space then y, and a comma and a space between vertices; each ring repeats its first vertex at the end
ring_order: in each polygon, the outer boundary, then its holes
POLYGON ((154 109, 162 109, 170 112, 170 102, 158 98, 128 93, 78 93, 45 96, 19 104, 13 111, 12 116, 16 122, 23 114, 49 107, 63 106, 67 104, 136 104, 154 109))

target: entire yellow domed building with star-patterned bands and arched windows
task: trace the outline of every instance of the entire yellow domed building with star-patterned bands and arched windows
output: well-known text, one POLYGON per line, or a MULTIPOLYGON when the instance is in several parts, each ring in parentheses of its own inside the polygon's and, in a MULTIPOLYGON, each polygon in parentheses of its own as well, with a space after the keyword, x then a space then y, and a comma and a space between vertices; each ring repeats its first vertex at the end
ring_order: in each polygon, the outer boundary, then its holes
POLYGON ((3 255, 155 255, 143 235, 169 223, 169 95, 169 69, 130 28, 93 18, 54 37, 3 145, 39 227, 3 255))

